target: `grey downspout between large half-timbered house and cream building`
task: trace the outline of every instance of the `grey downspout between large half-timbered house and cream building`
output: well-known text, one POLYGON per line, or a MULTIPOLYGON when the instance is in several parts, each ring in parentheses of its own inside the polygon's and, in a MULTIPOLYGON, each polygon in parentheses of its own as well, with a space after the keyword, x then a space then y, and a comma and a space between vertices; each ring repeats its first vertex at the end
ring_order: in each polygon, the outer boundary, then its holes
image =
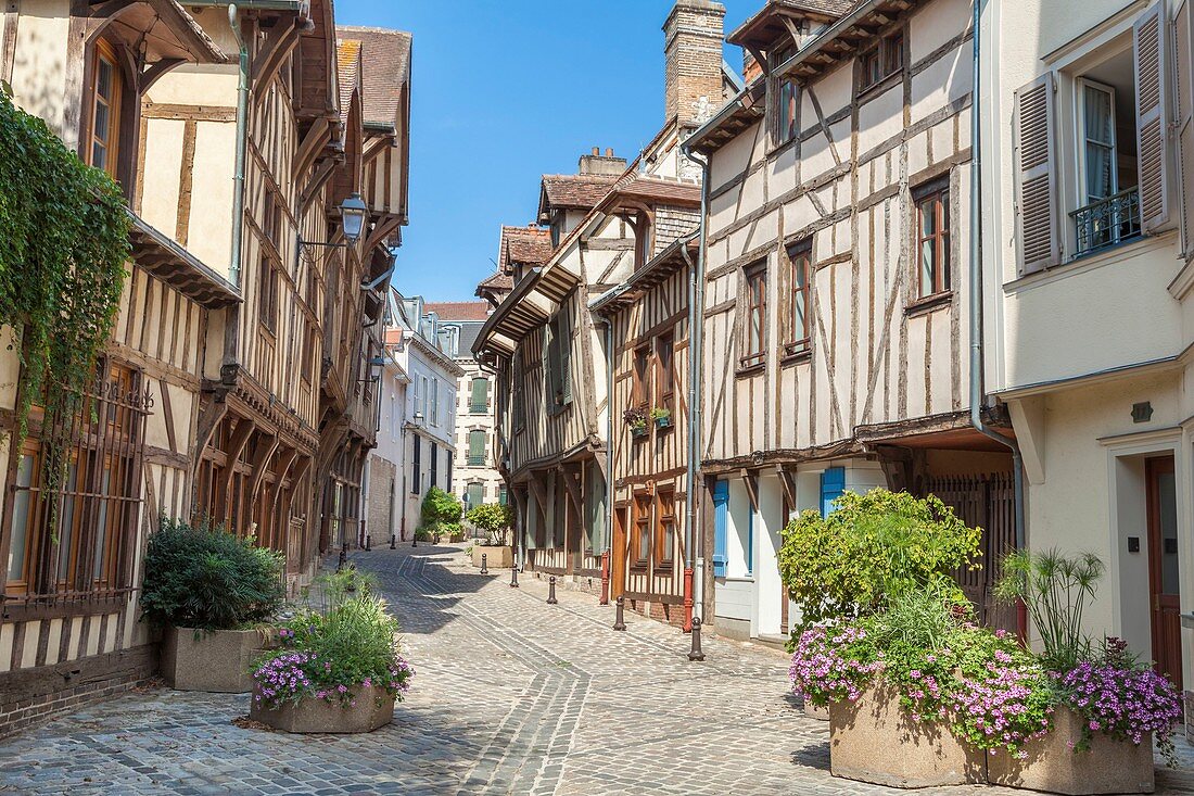
MULTIPOLYGON (((983 421, 983 404, 986 400, 983 367, 983 214, 979 209, 981 198, 981 123, 978 112, 980 91, 979 66, 979 24, 981 22, 983 0, 974 0, 974 79, 971 102, 971 251, 970 251, 970 402, 971 424, 979 433, 1007 446, 1011 451, 1011 466, 1015 491, 1015 532, 1016 550, 1024 549, 1024 467, 1020 445, 1014 437, 1007 436, 986 425, 983 421)), ((1023 627, 1023 623, 1021 623, 1023 627)))

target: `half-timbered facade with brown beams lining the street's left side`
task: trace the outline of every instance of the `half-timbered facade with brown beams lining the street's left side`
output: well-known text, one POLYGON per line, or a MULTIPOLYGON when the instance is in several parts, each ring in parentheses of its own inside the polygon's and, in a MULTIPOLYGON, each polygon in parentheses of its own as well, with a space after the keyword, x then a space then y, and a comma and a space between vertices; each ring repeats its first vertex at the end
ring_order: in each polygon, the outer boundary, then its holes
MULTIPOLYGON (((14 0, 0 16, 14 102, 109 171, 133 216, 88 393, 110 421, 75 418, 56 527, 38 418, 21 447, 4 442, 0 734, 153 674, 136 595, 161 516, 284 552, 291 588, 320 552, 357 541, 347 520, 407 222, 411 38, 337 30, 330 0, 246 2, 236 30, 227 6, 14 0), (339 215, 351 195, 367 206, 353 243, 339 215)), ((19 367, 0 357, 5 381, 19 367)), ((17 398, 0 398, 10 431, 17 398)))

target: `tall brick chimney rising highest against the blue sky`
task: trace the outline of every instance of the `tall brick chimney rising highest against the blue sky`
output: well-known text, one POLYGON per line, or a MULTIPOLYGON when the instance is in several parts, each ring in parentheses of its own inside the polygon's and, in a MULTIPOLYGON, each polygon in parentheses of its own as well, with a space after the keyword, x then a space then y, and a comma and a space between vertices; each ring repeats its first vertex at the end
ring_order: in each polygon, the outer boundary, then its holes
POLYGON ((712 0, 677 0, 664 23, 666 120, 693 128, 722 102, 721 41, 726 7, 712 0))

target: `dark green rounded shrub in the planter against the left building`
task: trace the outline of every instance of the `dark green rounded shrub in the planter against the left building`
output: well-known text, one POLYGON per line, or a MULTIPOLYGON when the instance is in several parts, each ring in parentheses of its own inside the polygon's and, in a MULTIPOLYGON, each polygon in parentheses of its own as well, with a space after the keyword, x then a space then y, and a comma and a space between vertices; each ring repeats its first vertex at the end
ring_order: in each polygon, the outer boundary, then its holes
POLYGON ((285 596, 282 553, 221 527, 164 518, 146 550, 141 616, 156 625, 232 630, 271 619, 285 596))

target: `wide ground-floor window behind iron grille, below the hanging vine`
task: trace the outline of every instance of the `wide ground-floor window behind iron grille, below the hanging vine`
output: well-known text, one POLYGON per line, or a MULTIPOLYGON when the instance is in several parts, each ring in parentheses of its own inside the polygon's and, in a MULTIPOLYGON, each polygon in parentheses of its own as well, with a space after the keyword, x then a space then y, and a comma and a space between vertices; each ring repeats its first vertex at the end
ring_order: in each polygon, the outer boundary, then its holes
MULTIPOLYGON (((133 586, 133 546, 141 503, 141 448, 148 415, 141 374, 100 362, 106 378, 87 391, 73 418, 57 522, 42 491, 42 451, 25 440, 10 474, 8 596, 115 598, 133 586)), ((31 421, 41 420, 31 410, 31 421)))

